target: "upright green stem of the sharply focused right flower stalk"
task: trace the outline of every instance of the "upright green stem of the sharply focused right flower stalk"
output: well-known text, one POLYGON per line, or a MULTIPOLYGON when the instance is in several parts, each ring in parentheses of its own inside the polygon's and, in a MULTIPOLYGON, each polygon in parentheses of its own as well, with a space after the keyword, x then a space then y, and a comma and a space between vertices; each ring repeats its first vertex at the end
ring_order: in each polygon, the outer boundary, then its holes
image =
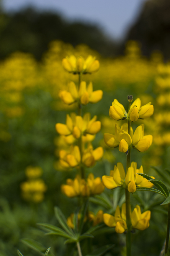
MULTIPOLYGON (((129 102, 130 109, 131 102, 129 102)), ((128 118, 128 133, 130 135, 131 121, 128 118)), ((126 173, 130 167, 130 155, 131 147, 128 149, 128 154, 126 158, 126 173)), ((130 193, 127 188, 125 188, 125 197, 126 197, 126 224, 127 224, 127 233, 126 233, 126 255, 131 256, 131 221, 130 221, 130 193)))

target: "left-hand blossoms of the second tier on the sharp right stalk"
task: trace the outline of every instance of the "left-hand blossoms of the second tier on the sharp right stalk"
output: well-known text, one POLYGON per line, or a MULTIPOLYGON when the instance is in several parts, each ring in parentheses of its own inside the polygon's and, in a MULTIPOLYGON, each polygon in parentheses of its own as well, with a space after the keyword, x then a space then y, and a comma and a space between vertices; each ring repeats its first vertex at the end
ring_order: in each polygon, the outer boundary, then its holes
POLYGON ((132 144, 132 128, 130 135, 128 134, 127 124, 123 124, 121 128, 117 124, 115 124, 115 135, 112 135, 110 133, 104 133, 104 142, 107 146, 112 148, 116 148, 119 146, 119 151, 125 153, 128 150, 128 147, 132 144))

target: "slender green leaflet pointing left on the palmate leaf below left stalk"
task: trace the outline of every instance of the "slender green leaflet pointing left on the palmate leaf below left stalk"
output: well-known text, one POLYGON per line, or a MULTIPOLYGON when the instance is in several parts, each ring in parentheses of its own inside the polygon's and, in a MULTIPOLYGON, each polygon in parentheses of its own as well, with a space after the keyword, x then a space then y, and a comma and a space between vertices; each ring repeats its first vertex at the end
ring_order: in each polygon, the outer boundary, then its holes
POLYGON ((42 228, 44 228, 47 231, 52 231, 50 233, 46 233, 47 234, 55 234, 55 235, 59 235, 59 236, 64 236, 66 238, 73 238, 72 235, 70 235, 69 233, 66 233, 63 229, 58 228, 52 224, 48 224, 48 223, 37 223, 37 225, 41 226, 42 228))

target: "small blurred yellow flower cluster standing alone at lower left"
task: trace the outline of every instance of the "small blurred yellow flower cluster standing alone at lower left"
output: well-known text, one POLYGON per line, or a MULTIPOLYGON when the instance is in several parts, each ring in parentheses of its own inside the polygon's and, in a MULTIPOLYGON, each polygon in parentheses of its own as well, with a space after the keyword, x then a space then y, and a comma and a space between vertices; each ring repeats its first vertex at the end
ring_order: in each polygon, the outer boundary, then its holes
POLYGON ((44 180, 40 178, 42 169, 40 167, 28 166, 25 174, 28 180, 21 183, 22 197, 27 201, 40 203, 43 201, 44 192, 47 190, 44 180))

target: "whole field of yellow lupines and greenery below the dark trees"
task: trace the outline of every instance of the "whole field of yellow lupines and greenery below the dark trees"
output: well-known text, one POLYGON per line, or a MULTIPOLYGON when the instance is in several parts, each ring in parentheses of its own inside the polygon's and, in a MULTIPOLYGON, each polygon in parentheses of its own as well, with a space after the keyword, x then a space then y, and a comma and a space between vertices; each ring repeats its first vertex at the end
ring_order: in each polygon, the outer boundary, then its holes
POLYGON ((53 41, 1 61, 0 84, 0 255, 170 255, 163 56, 53 41))

